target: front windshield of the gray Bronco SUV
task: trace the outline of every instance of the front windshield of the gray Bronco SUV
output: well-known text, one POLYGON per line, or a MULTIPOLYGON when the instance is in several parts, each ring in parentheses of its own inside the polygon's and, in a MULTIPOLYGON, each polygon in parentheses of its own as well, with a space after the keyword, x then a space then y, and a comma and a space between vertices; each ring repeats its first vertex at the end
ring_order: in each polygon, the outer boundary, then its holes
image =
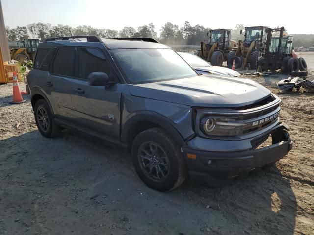
POLYGON ((117 49, 111 54, 131 84, 197 76, 171 49, 117 49))

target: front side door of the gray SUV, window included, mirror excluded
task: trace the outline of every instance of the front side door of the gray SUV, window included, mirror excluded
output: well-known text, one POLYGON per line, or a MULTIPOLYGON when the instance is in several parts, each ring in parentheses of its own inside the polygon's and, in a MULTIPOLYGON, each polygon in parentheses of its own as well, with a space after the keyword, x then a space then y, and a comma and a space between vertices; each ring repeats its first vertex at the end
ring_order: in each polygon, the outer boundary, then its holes
POLYGON ((116 81, 105 53, 95 47, 78 47, 78 75, 73 80, 71 100, 73 121, 91 130, 118 139, 120 133, 121 84, 93 87, 87 77, 92 72, 105 72, 116 81))

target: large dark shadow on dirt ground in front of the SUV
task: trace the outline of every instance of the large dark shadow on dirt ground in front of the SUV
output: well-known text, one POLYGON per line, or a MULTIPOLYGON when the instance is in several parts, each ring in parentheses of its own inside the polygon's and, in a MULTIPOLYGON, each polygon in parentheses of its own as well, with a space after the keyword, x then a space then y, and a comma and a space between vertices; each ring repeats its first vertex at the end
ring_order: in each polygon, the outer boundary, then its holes
POLYGON ((147 188, 129 154, 78 134, 0 141, 0 234, 285 234, 297 204, 278 170, 210 189, 147 188))

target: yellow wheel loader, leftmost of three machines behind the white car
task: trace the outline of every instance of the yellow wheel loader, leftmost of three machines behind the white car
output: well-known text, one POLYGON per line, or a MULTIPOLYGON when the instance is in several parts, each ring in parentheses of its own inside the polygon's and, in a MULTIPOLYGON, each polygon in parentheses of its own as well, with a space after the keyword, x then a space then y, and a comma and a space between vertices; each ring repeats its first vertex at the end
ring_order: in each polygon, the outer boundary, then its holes
POLYGON ((212 65, 222 66, 227 61, 227 54, 237 48, 235 40, 230 39, 230 29, 214 29, 207 33, 208 42, 201 42, 201 51, 198 56, 212 65), (210 35, 209 35, 210 34, 210 35))

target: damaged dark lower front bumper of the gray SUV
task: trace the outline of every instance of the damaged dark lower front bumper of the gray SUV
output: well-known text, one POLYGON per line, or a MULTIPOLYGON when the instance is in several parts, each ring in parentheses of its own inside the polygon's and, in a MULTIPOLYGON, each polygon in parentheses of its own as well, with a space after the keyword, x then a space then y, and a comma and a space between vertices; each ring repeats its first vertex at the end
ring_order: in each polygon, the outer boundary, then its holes
MULTIPOLYGON (((279 123, 269 132, 245 140, 248 141, 246 146, 250 146, 251 148, 240 151, 238 151, 237 141, 234 141, 234 150, 205 151, 183 146, 182 150, 189 169, 190 178, 197 178, 197 180, 205 182, 212 176, 235 178, 244 172, 250 172, 283 158, 292 148, 292 141, 285 129, 289 129, 289 127, 284 123, 279 123), (254 141, 265 140, 268 135, 272 136, 272 145, 259 149, 252 147, 254 141)), ((223 142, 220 144, 223 146, 223 142)), ((239 141, 239 145, 243 146, 243 140, 239 141)))

